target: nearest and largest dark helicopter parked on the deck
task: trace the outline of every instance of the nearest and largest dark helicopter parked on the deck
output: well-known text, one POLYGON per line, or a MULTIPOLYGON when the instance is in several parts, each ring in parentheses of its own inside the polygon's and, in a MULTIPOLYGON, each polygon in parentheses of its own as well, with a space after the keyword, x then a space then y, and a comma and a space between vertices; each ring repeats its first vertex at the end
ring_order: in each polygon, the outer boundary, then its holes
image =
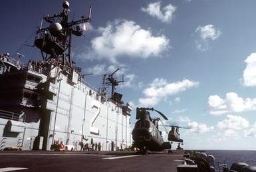
POLYGON ((162 132, 158 129, 160 118, 151 118, 149 111, 156 111, 164 120, 168 120, 164 114, 154 108, 137 108, 136 120, 138 120, 132 131, 134 146, 140 149, 140 153, 145 154, 147 150, 162 151, 171 149, 169 141, 164 141, 162 132))

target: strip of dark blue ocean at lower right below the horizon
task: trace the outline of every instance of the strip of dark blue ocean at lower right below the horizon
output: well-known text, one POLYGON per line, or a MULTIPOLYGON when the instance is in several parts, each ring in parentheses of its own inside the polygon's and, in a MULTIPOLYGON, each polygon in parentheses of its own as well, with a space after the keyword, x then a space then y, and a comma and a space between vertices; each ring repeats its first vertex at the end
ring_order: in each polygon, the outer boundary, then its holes
MULTIPOLYGON (((215 168, 218 171, 218 164, 227 164, 231 167, 233 163, 243 162, 256 167, 256 151, 238 151, 238 150, 207 150, 207 155, 215 157, 215 168)), ((222 170, 221 170, 222 171, 222 170)))

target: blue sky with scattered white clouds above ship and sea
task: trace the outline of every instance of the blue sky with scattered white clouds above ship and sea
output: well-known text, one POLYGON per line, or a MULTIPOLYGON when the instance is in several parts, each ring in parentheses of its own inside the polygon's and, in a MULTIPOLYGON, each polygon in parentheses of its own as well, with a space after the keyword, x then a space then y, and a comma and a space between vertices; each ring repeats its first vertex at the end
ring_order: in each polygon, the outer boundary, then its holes
MULTIPOLYGON (((2 1, 0 53, 40 59, 24 44, 62 3, 2 1)), ((73 59, 95 87, 120 68, 126 84, 116 91, 132 104, 132 122, 137 106, 154 107, 166 124, 195 127, 180 130, 186 149, 256 149, 256 1, 70 1, 70 19, 89 5, 73 59)))

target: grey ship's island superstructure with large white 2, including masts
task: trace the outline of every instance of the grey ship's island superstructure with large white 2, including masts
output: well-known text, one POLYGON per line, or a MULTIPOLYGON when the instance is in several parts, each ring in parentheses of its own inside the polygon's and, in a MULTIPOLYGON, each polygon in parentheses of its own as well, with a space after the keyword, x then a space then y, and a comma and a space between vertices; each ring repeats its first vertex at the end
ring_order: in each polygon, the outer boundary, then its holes
POLYGON ((71 57, 73 36, 81 36, 88 17, 68 21, 69 3, 53 16, 43 17, 35 46, 43 60, 26 65, 9 54, 0 56, 0 149, 49 150, 51 145, 101 145, 101 150, 131 145, 129 104, 115 87, 123 82, 116 71, 103 76, 95 89, 83 80, 81 68, 71 57), (47 24, 47 27, 44 27, 47 24), (111 96, 106 88, 111 86, 111 96))

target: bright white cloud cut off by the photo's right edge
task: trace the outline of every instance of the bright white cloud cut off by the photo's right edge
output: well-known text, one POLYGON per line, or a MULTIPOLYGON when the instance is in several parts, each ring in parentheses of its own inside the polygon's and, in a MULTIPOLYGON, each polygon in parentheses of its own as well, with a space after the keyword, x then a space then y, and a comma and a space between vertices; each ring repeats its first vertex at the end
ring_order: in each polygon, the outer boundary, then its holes
POLYGON ((256 53, 250 54, 245 60, 246 68, 243 70, 243 85, 256 86, 256 53))

